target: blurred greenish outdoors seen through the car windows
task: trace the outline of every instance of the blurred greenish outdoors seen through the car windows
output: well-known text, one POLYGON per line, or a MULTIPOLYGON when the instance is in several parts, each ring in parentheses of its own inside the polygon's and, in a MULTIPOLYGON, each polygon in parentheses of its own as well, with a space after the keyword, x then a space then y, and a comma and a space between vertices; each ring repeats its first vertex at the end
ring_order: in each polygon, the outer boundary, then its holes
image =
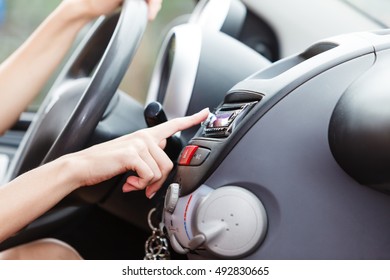
MULTIPOLYGON (((0 61, 4 61, 22 44, 60 2, 61 0, 0 0, 0 61)), ((157 18, 149 22, 141 47, 122 82, 123 91, 144 103, 154 62, 170 24, 177 17, 191 13, 194 6, 194 0, 164 0, 157 18)), ((42 96, 30 106, 30 110, 36 110, 41 99, 42 96)))

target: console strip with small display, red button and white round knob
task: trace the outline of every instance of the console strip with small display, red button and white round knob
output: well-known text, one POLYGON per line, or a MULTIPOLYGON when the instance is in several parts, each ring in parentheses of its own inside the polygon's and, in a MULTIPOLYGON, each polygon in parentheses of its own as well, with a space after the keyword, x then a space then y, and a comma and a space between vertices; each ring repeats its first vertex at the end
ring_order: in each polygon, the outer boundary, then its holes
POLYGON ((215 190, 201 184, 262 98, 255 92, 228 94, 182 150, 164 205, 164 224, 175 251, 203 249, 220 258, 238 258, 263 241, 267 214, 253 193, 235 185, 215 190))

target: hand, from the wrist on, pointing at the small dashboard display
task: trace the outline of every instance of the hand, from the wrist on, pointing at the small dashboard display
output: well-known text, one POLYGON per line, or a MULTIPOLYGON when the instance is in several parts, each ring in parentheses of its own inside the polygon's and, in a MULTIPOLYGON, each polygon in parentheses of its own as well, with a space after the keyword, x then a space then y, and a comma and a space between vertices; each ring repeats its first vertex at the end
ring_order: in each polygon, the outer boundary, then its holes
POLYGON ((74 166, 79 171, 78 185, 95 185, 127 171, 135 171, 137 176, 127 178, 123 191, 146 188, 146 196, 151 198, 173 167, 163 151, 166 138, 201 123, 208 112, 205 109, 192 116, 177 118, 68 155, 73 157, 74 166))

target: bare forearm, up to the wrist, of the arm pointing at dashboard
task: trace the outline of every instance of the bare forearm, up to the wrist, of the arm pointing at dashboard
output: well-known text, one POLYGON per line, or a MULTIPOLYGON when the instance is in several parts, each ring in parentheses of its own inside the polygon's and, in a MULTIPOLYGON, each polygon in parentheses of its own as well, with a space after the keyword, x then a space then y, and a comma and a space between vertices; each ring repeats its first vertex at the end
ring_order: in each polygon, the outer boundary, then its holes
POLYGON ((65 156, 0 187, 0 243, 75 190, 77 169, 65 156))

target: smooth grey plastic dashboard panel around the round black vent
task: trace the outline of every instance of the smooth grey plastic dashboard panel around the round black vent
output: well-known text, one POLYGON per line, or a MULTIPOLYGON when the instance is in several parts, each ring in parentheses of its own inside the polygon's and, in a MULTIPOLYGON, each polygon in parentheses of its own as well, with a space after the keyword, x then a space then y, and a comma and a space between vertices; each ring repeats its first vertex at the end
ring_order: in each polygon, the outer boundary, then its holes
MULTIPOLYGON (((390 197, 347 175, 328 143, 338 100, 376 59, 390 55, 389 42, 389 35, 341 36, 324 42, 324 51, 316 44, 260 71, 231 90, 264 94, 246 121, 226 139, 198 134, 190 142, 211 153, 203 166, 179 166, 182 195, 200 184, 234 185, 265 206, 267 235, 245 258, 390 257, 390 197)), ((189 257, 215 258, 206 250, 189 257)))

